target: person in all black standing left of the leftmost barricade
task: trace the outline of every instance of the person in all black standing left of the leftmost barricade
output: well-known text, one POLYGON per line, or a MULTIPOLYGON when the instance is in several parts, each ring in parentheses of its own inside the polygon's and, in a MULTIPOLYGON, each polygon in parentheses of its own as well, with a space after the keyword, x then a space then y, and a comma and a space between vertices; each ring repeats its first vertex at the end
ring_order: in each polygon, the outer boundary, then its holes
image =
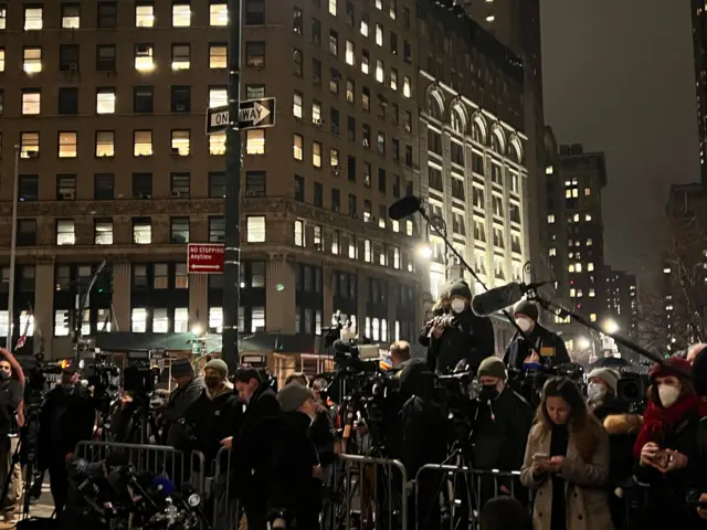
POLYGON ((76 368, 64 369, 61 384, 46 394, 40 411, 38 446, 39 468, 49 470, 57 518, 66 504, 66 465, 74 458, 76 444, 91 439, 95 418, 93 398, 81 384, 76 368))

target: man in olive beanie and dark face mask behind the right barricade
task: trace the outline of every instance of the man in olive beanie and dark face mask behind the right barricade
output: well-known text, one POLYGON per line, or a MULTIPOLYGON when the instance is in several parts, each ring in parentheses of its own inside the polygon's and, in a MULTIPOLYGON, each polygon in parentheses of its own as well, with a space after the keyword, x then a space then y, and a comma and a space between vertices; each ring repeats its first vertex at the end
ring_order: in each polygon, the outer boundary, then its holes
MULTIPOLYGON (((484 359, 477 372, 481 391, 473 402, 472 447, 474 468, 479 470, 499 469, 516 471, 523 466, 526 441, 532 425, 532 407, 519 394, 506 384, 506 367, 497 357, 484 359)), ((485 480, 482 494, 484 501, 497 495, 516 494, 516 498, 526 501, 527 496, 519 483, 509 480, 485 480), (494 490, 497 485, 499 490, 494 490)))

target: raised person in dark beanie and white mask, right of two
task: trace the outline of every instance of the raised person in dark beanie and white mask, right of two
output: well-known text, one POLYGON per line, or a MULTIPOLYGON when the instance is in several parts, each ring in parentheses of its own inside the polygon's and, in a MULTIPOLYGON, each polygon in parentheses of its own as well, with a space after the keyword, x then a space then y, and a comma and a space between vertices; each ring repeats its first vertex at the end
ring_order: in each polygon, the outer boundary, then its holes
POLYGON ((523 335, 516 332, 506 347, 504 362, 508 368, 523 370, 526 362, 546 367, 570 362, 564 341, 538 324, 539 315, 538 306, 530 300, 520 300, 514 308, 516 324, 523 335))

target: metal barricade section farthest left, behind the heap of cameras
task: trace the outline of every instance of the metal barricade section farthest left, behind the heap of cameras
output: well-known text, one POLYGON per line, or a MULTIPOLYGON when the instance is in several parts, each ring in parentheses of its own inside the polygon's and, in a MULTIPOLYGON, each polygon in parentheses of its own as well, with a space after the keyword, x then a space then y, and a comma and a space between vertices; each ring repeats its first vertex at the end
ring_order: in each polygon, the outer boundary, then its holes
POLYGON ((169 477, 178 487, 189 481, 203 495, 207 467, 199 451, 183 453, 166 445, 120 444, 113 442, 78 442, 76 458, 89 463, 101 462, 120 454, 138 473, 149 471, 169 477))

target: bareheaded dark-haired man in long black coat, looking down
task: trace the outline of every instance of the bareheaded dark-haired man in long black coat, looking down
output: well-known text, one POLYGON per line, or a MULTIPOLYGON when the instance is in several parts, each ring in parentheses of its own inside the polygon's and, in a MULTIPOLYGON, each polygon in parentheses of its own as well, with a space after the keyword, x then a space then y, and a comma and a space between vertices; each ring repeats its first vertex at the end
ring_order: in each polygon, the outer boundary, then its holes
POLYGON ((272 447, 279 421, 279 403, 275 391, 254 368, 235 372, 235 389, 247 403, 241 428, 221 444, 233 449, 235 485, 245 508, 249 530, 265 530, 272 447))

